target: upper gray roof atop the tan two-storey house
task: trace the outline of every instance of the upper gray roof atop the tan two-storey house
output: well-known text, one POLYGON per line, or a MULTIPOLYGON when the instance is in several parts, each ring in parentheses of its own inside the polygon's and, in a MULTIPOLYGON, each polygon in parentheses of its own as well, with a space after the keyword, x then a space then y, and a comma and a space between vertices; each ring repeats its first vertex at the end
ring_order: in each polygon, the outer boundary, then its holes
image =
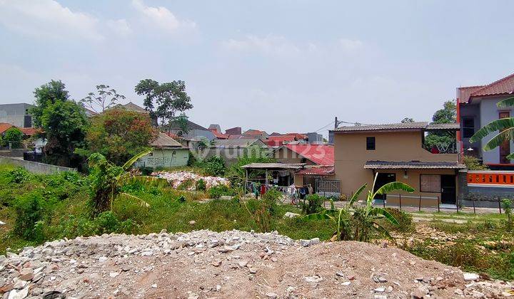
POLYGON ((459 130, 458 124, 429 124, 428 122, 400 122, 384 125, 355 125, 338 127, 335 132, 366 132, 366 131, 421 131, 421 130, 459 130))

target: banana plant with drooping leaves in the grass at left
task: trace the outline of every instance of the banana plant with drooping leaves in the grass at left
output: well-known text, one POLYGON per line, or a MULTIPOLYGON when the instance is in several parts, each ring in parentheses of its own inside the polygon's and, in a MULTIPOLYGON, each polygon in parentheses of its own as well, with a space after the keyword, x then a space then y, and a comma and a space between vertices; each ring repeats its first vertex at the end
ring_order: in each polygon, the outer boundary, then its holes
POLYGON ((150 153, 152 149, 143 150, 129 159, 123 166, 119 167, 107 161, 104 155, 99 153, 91 154, 89 157, 89 181, 91 183, 91 203, 93 213, 99 214, 103 211, 112 209, 112 203, 116 196, 123 195, 141 202, 141 205, 148 204, 137 196, 121 192, 121 187, 129 182, 141 182, 151 184, 153 182, 166 183, 165 179, 157 177, 146 177, 138 175, 136 170, 130 170, 131 166, 141 157, 150 153))

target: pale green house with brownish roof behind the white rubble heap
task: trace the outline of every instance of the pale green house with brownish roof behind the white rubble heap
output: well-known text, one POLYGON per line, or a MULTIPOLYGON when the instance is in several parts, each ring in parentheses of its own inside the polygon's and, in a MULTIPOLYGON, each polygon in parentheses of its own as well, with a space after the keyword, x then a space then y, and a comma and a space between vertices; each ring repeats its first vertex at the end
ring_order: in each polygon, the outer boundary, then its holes
POLYGON ((153 151, 141 157, 135 163, 136 167, 178 167, 186 166, 189 150, 168 135, 160 132, 153 142, 153 151))

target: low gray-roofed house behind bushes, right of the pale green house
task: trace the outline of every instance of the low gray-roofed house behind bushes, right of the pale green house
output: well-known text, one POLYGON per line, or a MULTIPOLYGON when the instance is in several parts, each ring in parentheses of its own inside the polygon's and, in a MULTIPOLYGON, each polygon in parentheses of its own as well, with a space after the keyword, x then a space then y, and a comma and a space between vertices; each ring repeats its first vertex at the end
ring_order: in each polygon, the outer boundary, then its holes
POLYGON ((200 154, 204 157, 220 156, 225 159, 227 164, 233 164, 237 162, 237 159, 252 147, 261 147, 268 149, 266 144, 257 138, 253 139, 227 139, 227 140, 215 140, 213 145, 207 150, 203 150, 200 154))

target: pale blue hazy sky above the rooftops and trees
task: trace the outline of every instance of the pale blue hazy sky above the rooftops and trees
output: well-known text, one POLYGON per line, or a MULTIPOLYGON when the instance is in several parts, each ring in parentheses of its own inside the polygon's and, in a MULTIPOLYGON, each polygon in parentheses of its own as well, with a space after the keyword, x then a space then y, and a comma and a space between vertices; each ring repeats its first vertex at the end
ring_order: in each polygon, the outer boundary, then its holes
POLYGON ((328 135, 334 117, 428 121, 514 73, 514 1, 0 0, 0 103, 62 80, 142 105, 184 80, 199 125, 328 135))

